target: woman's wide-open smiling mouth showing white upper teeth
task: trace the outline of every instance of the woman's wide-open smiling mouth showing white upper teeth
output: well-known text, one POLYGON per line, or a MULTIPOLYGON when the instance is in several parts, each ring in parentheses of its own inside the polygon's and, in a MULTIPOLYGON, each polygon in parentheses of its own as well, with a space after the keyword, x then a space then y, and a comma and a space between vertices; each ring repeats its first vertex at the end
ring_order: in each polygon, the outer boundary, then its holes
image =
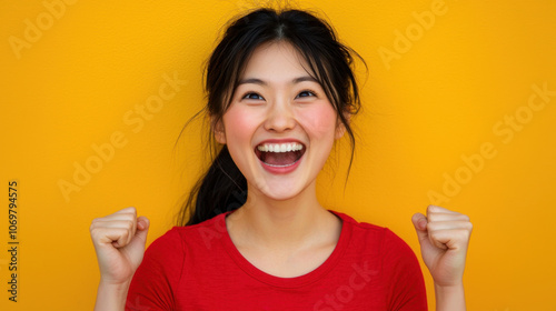
POLYGON ((255 154, 269 167, 285 168, 295 164, 305 153, 299 142, 262 143, 255 148, 255 154))

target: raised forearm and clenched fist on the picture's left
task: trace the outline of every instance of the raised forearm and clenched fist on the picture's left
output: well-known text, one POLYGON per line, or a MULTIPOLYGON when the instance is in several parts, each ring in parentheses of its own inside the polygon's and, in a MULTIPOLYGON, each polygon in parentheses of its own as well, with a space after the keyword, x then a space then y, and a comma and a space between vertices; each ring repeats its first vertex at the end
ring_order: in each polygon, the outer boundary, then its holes
POLYGON ((90 233, 100 269, 95 311, 122 311, 129 284, 142 261, 149 220, 127 208, 92 220, 90 233))

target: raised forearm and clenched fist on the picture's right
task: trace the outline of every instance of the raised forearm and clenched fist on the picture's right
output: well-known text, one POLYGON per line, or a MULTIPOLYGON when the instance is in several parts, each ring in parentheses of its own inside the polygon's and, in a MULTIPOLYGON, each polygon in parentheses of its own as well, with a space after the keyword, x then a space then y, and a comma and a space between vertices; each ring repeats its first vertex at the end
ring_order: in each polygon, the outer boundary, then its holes
POLYGON ((464 270, 473 224, 469 217, 437 205, 411 219, 423 261, 435 281, 437 311, 465 311, 464 270))

